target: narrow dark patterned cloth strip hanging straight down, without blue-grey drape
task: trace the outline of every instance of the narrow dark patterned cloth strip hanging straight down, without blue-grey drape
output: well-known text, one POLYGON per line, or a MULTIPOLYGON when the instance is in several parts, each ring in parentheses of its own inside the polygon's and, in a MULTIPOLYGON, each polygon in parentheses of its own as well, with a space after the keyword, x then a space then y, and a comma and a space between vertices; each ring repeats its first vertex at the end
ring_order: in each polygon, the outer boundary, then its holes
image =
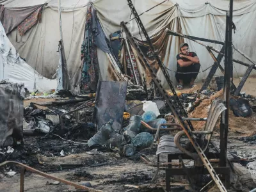
POLYGON ((97 17, 96 12, 92 8, 92 3, 89 3, 86 13, 84 41, 81 45, 81 58, 83 63, 81 77, 82 93, 89 90, 96 90, 99 80, 99 63, 97 46, 95 44, 97 25, 93 25, 94 17, 97 17))

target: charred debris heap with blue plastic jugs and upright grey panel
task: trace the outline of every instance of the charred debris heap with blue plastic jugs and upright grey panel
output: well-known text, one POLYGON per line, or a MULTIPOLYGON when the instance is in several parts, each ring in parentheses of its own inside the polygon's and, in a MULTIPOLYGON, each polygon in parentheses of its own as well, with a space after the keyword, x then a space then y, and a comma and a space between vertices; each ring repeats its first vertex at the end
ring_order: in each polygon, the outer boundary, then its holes
MULTIPOLYGON (((172 97, 172 93, 169 95, 172 97)), ((198 92, 195 86, 177 95, 189 117, 196 114, 205 118, 212 100, 223 93, 222 90, 198 92)), ((168 134, 166 126, 161 124, 176 123, 157 92, 153 89, 146 92, 141 86, 127 86, 125 82, 101 81, 97 93, 79 97, 30 95, 24 103, 22 143, 25 145, 1 147, 1 162, 26 163, 30 154, 67 156, 95 149, 132 157, 141 149, 152 147, 158 126, 168 134), (31 145, 24 140, 31 141, 31 145), (14 152, 10 148, 15 148, 14 152)), ((241 93, 230 104, 234 116, 246 117, 252 115, 256 101, 252 95, 241 93)), ((194 124, 195 129, 204 127, 201 124, 194 124)), ((253 142, 253 138, 242 139, 253 142)))

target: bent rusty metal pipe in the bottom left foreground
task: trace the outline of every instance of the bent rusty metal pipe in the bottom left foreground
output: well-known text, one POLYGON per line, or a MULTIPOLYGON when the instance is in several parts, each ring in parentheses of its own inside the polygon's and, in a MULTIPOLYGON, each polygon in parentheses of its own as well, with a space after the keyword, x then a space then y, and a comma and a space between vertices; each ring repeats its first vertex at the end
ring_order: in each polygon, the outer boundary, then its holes
POLYGON ((101 190, 88 188, 86 186, 81 186, 81 185, 76 184, 74 182, 71 182, 69 180, 60 179, 58 177, 54 177, 54 176, 49 175, 47 173, 40 172, 39 170, 36 170, 35 168, 31 168, 30 166, 28 166, 26 164, 22 164, 22 163, 19 163, 19 162, 16 162, 16 161, 4 161, 3 163, 0 163, 0 167, 4 166, 6 164, 15 164, 17 166, 20 166, 21 168, 24 168, 24 170, 29 170, 30 172, 36 173, 38 175, 42 175, 43 177, 47 177, 49 179, 57 180, 59 182, 65 183, 65 184, 70 185, 70 186, 74 186, 74 187, 79 188, 79 189, 86 189, 87 191, 90 191, 90 192, 102 192, 101 190))

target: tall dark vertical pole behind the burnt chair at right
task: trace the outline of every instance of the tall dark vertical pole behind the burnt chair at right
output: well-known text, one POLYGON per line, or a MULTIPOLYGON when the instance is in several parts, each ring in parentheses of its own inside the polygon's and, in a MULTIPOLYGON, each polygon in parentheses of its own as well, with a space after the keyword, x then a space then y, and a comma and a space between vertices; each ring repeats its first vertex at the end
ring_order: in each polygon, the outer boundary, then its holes
POLYGON ((232 63, 232 18, 233 18, 233 0, 230 0, 230 10, 227 12, 226 39, 225 39, 225 74, 223 88, 223 102, 227 108, 221 115, 220 125, 220 166, 227 164, 227 140, 228 140, 228 112, 230 100, 230 83, 233 70, 232 63))

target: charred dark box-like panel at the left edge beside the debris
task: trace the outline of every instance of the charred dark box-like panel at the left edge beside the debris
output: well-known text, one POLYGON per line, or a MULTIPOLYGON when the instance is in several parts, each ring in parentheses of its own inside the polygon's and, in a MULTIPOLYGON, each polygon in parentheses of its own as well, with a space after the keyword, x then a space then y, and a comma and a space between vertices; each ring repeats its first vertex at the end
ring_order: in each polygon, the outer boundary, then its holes
POLYGON ((23 140, 24 86, 0 82, 0 146, 16 145, 23 140))

